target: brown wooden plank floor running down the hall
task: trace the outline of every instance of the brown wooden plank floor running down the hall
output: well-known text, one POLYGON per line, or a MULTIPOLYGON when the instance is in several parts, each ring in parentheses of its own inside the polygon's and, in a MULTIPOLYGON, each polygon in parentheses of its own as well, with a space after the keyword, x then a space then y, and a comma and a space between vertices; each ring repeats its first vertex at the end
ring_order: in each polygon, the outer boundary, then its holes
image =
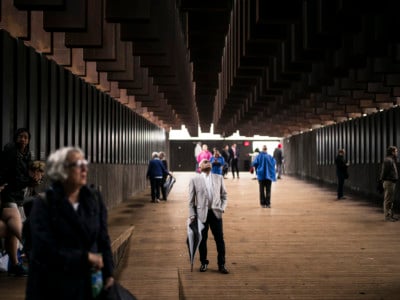
MULTIPOLYGON (((270 209, 259 206, 249 173, 226 179, 231 273, 217 272, 211 233, 209 270, 198 271, 197 254, 190 272, 185 241, 193 173, 175 176, 167 202, 150 203, 146 191, 109 214, 110 228, 134 226, 118 278, 139 300, 399 299, 400 222, 383 222, 382 209, 362 198, 336 201, 335 190, 286 176, 273 184, 270 209)), ((0 299, 15 281, 21 279, 0 277, 0 299)))

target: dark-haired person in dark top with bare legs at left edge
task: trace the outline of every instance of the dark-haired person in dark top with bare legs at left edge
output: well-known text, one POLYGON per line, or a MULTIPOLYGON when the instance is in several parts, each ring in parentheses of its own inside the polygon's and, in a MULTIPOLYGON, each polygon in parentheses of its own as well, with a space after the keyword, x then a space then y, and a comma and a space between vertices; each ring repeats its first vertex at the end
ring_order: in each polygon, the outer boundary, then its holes
POLYGON ((28 166, 32 161, 29 150, 30 139, 31 134, 28 129, 17 129, 13 142, 4 146, 0 162, 0 220, 7 230, 5 248, 11 261, 8 273, 13 276, 27 275, 26 268, 18 262, 17 257, 18 240, 22 242, 22 220, 18 206, 24 201, 26 188, 33 186, 35 181, 39 180, 29 176, 28 166))

